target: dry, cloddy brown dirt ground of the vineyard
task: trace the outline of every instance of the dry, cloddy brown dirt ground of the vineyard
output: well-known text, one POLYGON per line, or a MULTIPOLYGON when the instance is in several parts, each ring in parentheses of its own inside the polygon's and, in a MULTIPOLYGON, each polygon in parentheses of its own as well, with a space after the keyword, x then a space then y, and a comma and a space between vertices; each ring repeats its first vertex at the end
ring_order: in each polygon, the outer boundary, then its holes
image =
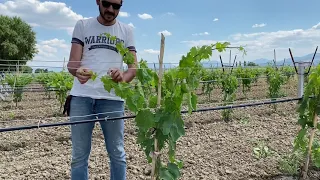
MULTIPOLYGON (((289 97, 296 97, 295 84, 284 87, 289 97)), ((265 99, 265 88, 265 85, 256 85, 248 96, 265 99)), ((213 92, 215 94, 219 93, 213 92)), ((238 97, 243 100, 240 94, 238 97)), ((18 105, 21 109, 11 107, 9 102, 0 102, 0 128, 67 121, 58 117, 58 102, 47 99, 44 93, 25 93, 23 98, 18 105)), ((216 96, 211 98, 217 99, 216 96)), ((198 106, 206 107, 213 105, 198 106)), ((293 139, 299 130, 295 113, 297 104, 281 103, 277 107, 277 112, 269 105, 235 109, 233 121, 229 123, 221 120, 221 111, 185 116, 186 135, 177 145, 177 158, 184 161, 181 179, 295 179, 280 171, 279 161, 292 150, 293 139), (261 142, 269 148, 270 154, 256 158, 253 149, 261 142)), ((133 120, 126 120, 127 179, 150 179, 151 166, 136 144, 134 129, 133 120)), ((0 134, 0 179, 70 179, 70 159, 69 126, 0 134)), ((108 156, 98 123, 92 140, 89 170, 90 179, 109 179, 108 156)), ((310 180, 320 179, 320 171, 311 169, 309 177, 310 180)))

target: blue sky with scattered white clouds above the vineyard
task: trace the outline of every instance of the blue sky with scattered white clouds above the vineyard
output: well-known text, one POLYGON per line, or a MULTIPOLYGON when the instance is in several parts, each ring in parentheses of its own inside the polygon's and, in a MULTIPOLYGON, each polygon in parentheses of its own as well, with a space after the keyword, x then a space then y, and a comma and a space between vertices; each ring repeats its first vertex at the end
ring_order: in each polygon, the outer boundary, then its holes
MULTIPOLYGON (((289 47, 296 56, 314 52, 320 42, 319 7, 319 0, 125 0, 121 12, 129 16, 118 19, 133 24, 138 57, 149 62, 157 61, 158 32, 165 30, 170 32, 166 35, 165 62, 176 63, 191 46, 215 41, 247 45, 248 55, 239 60, 272 59, 273 49, 277 59, 283 59, 289 57, 289 47), (138 14, 152 18, 142 19, 138 14)), ((39 65, 48 59, 68 59, 76 20, 96 17, 98 8, 94 0, 0 0, 0 14, 18 15, 33 25, 41 52, 31 65, 39 65)), ((218 55, 214 52, 212 59, 218 55)), ((229 53, 222 56, 228 61, 229 53)))

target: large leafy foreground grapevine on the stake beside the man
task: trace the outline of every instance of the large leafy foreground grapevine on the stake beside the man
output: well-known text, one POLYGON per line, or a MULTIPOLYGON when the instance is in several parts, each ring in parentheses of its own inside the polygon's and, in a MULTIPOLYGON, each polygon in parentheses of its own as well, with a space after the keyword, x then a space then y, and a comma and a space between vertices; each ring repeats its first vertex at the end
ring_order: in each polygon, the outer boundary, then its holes
MULTIPOLYGON (((116 39, 110 34, 107 38, 116 39)), ((184 121, 181 116, 182 103, 186 100, 188 112, 196 110, 197 96, 202 71, 201 60, 212 55, 212 48, 225 51, 229 43, 216 43, 202 47, 193 47, 186 56, 182 56, 179 66, 166 71, 163 78, 151 70, 146 61, 137 65, 134 87, 126 82, 115 83, 108 75, 102 76, 104 88, 114 91, 126 101, 130 111, 136 114, 137 143, 144 150, 149 163, 153 163, 154 179, 175 180, 180 177, 183 163, 176 159, 177 140, 185 134, 184 121), (159 79, 162 79, 159 82, 159 79), (161 99, 157 98, 161 85, 161 99), (158 100, 160 100, 158 102, 158 100), (168 147, 168 161, 161 160, 161 152, 168 147)), ((134 57, 121 42, 116 45, 126 64, 134 64, 134 57)))

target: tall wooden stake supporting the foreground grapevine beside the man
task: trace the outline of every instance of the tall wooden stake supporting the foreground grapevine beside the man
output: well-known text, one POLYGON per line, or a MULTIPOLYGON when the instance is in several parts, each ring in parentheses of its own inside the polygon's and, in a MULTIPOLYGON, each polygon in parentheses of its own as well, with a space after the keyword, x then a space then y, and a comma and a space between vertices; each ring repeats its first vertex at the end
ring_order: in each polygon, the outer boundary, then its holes
MULTIPOLYGON (((160 56, 159 56, 159 82, 158 82, 158 99, 157 99, 157 106, 160 108, 161 106, 161 82, 162 82, 162 76, 163 76, 163 54, 164 54, 164 44, 165 44, 165 37, 161 33, 161 44, 160 44, 160 56)), ((159 146, 158 146, 158 139, 154 139, 154 150, 155 152, 153 153, 152 157, 152 180, 157 179, 157 162, 158 162, 158 156, 159 156, 159 146)))

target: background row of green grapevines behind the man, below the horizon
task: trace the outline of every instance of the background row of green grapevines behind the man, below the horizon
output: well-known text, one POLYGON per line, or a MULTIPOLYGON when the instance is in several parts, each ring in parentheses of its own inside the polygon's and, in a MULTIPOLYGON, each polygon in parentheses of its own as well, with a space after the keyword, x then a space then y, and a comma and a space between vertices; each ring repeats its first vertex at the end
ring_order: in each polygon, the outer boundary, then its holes
MULTIPOLYGON (((171 70, 169 69, 165 71, 165 73, 170 73, 170 71, 171 70)), ((259 78, 266 78, 269 86, 281 86, 286 84, 290 78, 295 75, 294 67, 289 66, 281 67, 278 70, 272 66, 264 68, 238 66, 235 69, 203 68, 200 81, 202 84, 202 93, 208 95, 210 98, 210 93, 213 89, 223 89, 225 86, 223 83, 224 71, 230 71, 228 72, 229 79, 238 81, 237 86, 241 87, 244 95, 250 91, 252 85, 256 83, 259 78)), ((136 81, 133 81, 131 85, 134 86, 135 82, 136 81)), ((2 87, 0 87, 0 93, 12 93, 13 100, 17 104, 23 99, 24 92, 46 92, 46 95, 50 96, 50 92, 54 91, 62 107, 68 92, 72 88, 72 84, 73 77, 68 72, 47 72, 35 74, 7 73, 0 81, 0 85, 2 87), (38 83, 38 85, 41 85, 42 87, 27 87, 32 83, 38 83)), ((281 95, 275 92, 277 90, 273 90, 274 88, 269 89, 271 90, 271 92, 269 92, 270 98, 281 97, 281 95)))

